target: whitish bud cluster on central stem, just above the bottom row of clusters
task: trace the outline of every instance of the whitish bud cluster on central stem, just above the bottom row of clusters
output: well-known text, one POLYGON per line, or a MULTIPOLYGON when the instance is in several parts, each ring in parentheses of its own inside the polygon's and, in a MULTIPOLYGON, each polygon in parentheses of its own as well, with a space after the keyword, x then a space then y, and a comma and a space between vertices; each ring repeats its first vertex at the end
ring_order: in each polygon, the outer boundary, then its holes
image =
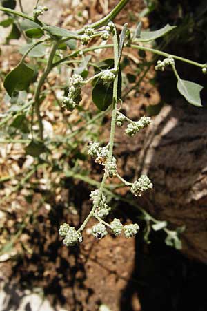
MULTIPOLYGON (((93 204, 97 204, 97 198, 99 196, 99 190, 92 191, 90 194, 90 198, 93 202, 93 204)), ((98 202, 97 208, 95 209, 95 215, 99 216, 100 218, 105 218, 108 216, 110 212, 110 207, 106 204, 106 196, 104 194, 101 194, 101 198, 98 202)))

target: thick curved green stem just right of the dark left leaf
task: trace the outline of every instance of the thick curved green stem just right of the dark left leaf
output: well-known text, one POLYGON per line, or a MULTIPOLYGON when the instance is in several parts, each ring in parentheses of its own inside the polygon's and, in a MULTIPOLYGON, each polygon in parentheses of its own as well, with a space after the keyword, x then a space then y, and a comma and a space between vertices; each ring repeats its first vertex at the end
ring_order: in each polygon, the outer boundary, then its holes
POLYGON ((37 84, 37 88, 34 94, 34 109, 35 109, 35 113, 37 115, 37 119, 38 119, 38 123, 39 123, 39 138, 40 140, 43 140, 43 123, 42 123, 42 119, 41 119, 41 114, 40 114, 40 93, 41 93, 41 87, 43 86, 46 77, 48 77, 48 74, 50 73, 50 71, 52 70, 52 61, 53 61, 53 57, 55 56, 56 50, 58 48, 59 42, 58 41, 54 41, 52 44, 52 47, 50 49, 50 54, 48 56, 48 63, 46 66, 46 70, 44 71, 43 75, 41 76, 41 78, 39 79, 39 82, 37 84))

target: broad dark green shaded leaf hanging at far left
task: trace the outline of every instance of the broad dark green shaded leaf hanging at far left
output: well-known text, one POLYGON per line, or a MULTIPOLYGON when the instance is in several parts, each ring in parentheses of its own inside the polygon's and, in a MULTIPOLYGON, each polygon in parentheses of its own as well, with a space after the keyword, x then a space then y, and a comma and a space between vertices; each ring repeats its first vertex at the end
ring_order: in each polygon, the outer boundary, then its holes
POLYGON ((12 97, 13 91, 23 91, 28 88, 32 81, 34 70, 28 67, 25 63, 20 63, 14 68, 4 80, 3 86, 10 97, 12 97))

